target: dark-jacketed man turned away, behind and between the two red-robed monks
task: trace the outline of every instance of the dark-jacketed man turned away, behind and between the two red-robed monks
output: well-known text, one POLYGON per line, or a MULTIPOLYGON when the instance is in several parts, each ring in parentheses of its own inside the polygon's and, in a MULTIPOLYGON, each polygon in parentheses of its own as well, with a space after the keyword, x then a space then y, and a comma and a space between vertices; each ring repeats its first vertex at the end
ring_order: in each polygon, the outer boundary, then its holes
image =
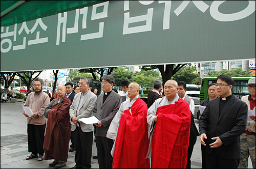
POLYGON ((150 106, 155 102, 156 99, 161 98, 161 87, 162 82, 160 80, 154 81, 154 89, 150 91, 147 95, 147 108, 150 108, 150 106))

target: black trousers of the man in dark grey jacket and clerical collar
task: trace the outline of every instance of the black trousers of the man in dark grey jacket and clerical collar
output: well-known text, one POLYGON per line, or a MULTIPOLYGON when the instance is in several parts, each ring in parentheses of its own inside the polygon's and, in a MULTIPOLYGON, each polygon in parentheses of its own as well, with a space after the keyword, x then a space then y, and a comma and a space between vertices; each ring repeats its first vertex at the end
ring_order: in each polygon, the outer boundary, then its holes
POLYGON ((113 139, 96 136, 99 168, 112 167, 113 157, 110 152, 112 150, 113 145, 114 145, 113 139))

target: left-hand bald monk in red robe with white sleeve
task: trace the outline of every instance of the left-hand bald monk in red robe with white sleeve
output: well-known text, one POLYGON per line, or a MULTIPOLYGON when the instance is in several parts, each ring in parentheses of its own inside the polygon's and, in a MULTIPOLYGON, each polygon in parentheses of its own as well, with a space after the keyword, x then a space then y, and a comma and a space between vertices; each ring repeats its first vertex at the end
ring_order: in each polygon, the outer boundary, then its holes
POLYGON ((106 137, 115 141, 112 168, 150 168, 145 159, 148 149, 147 105, 139 98, 139 84, 130 83, 127 99, 114 119, 106 137))

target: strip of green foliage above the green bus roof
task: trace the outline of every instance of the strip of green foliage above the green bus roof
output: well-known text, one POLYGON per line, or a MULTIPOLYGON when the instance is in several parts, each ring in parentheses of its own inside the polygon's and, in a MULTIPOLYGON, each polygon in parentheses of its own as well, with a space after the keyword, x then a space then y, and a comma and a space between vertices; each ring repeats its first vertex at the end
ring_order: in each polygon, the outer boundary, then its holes
POLYGON ((250 77, 251 72, 249 70, 243 70, 241 68, 232 68, 232 70, 221 69, 221 71, 208 72, 209 77, 218 77, 225 74, 231 77, 250 77))

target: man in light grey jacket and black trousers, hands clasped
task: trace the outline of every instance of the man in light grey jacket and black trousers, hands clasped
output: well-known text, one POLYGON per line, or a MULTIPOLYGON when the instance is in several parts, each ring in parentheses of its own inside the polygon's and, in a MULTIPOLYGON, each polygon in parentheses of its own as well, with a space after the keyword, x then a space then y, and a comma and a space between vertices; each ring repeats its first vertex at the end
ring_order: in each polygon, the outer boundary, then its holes
POLYGON ((89 90, 89 83, 87 78, 80 78, 78 85, 81 92, 75 95, 69 110, 76 150, 76 165, 73 168, 91 168, 94 127, 93 124, 79 122, 79 119, 93 116, 97 96, 89 90))

